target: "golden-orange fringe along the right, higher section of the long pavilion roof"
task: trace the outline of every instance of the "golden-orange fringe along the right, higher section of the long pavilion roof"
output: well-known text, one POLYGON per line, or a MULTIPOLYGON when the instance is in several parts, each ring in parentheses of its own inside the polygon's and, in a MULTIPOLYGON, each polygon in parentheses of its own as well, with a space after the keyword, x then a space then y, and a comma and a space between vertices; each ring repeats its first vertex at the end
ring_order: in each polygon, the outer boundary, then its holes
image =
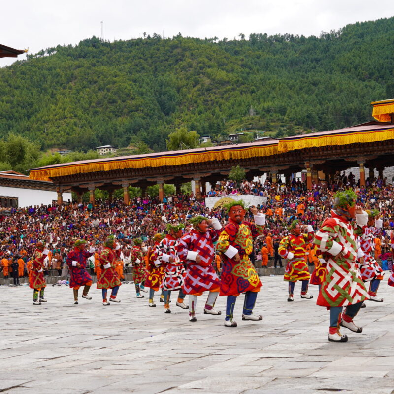
POLYGON ((296 149, 315 148, 318 146, 347 145, 394 139, 394 128, 384 130, 366 130, 353 132, 339 132, 335 134, 309 135, 302 137, 280 139, 278 153, 285 153, 296 149))

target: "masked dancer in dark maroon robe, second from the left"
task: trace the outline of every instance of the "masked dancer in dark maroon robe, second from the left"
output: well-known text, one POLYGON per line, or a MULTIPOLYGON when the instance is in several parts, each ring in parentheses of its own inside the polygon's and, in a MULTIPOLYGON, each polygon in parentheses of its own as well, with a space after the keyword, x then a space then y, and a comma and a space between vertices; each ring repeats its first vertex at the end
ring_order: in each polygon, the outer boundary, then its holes
POLYGON ((88 295, 89 289, 92 286, 92 277, 86 271, 88 258, 93 256, 95 248, 91 247, 89 252, 85 250, 86 241, 79 239, 74 243, 74 249, 68 253, 66 263, 70 273, 70 288, 74 292, 74 304, 78 305, 78 290, 84 286, 82 291, 82 298, 92 299, 88 295))

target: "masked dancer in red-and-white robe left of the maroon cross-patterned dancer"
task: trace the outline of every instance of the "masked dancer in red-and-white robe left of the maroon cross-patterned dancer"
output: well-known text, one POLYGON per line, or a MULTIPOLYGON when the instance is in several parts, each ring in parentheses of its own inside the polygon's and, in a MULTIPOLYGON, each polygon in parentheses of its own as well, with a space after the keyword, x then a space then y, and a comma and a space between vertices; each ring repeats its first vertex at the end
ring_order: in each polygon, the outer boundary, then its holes
POLYGON ((182 236, 183 224, 173 225, 168 223, 166 230, 169 232, 165 238, 156 246, 156 257, 164 265, 165 273, 162 283, 164 291, 164 313, 171 313, 169 301, 172 290, 178 290, 176 306, 189 309, 183 302, 185 294, 182 291, 185 282, 185 267, 178 256, 179 238, 182 236))

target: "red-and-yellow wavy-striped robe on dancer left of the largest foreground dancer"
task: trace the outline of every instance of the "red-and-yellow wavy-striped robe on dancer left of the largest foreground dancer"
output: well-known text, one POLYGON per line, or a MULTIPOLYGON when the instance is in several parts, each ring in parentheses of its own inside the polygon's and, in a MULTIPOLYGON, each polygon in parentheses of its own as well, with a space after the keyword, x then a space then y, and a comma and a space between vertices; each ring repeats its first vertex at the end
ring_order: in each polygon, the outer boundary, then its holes
POLYGON ((283 280, 296 282, 311 277, 305 253, 306 244, 312 242, 314 235, 311 226, 305 234, 290 234, 280 241, 278 252, 283 258, 288 259, 283 280))

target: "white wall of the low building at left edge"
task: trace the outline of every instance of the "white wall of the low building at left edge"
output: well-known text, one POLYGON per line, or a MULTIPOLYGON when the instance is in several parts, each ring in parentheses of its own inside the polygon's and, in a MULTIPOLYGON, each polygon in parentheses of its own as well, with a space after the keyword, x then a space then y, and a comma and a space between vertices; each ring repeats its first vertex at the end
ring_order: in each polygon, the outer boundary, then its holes
MULTIPOLYGON (((47 190, 22 189, 22 188, 7 188, 0 186, 0 196, 18 197, 18 204, 20 208, 30 205, 48 205, 52 204, 53 200, 58 199, 56 192, 49 192, 47 190)), ((63 193, 63 201, 71 200, 71 193, 63 193)))

